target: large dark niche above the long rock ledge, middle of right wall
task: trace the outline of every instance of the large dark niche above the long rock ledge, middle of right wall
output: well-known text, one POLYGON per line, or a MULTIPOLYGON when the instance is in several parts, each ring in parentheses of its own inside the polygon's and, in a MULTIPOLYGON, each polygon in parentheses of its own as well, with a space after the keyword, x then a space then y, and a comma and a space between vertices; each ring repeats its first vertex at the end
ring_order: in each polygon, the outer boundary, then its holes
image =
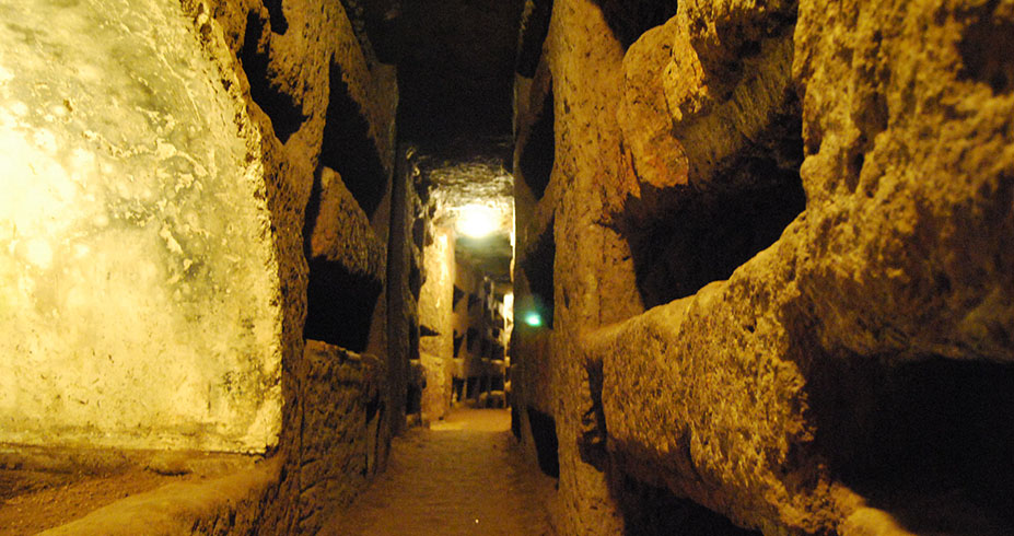
POLYGON ((802 118, 785 115, 771 124, 758 139, 773 140, 772 147, 743 151, 700 188, 641 185, 640 197, 629 197, 614 217, 645 307, 729 279, 806 208, 802 118))

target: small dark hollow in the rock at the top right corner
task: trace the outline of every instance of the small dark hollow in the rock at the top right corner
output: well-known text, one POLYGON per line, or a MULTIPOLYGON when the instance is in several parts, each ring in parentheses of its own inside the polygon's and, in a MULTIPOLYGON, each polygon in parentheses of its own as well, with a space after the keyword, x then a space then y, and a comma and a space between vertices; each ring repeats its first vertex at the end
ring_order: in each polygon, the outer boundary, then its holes
POLYGON ((979 21, 965 28, 958 44, 960 75, 986 83, 994 93, 1006 93, 1014 90, 1014 21, 1000 21, 996 5, 996 0, 990 1, 979 21))

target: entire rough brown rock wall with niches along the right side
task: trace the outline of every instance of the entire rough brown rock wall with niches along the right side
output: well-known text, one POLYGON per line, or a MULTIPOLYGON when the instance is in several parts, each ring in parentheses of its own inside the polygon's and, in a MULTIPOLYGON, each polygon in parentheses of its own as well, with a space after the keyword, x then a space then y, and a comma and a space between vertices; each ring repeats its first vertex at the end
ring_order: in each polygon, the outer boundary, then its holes
POLYGON ((622 10, 556 0, 515 85, 561 532, 1007 533, 1014 4, 622 10))

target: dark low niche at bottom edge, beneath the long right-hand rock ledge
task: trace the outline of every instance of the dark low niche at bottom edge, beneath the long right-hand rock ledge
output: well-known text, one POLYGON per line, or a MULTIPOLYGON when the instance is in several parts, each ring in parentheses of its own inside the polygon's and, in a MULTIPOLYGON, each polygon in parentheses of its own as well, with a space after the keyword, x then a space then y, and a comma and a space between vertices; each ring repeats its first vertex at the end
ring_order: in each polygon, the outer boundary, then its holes
POLYGON ((610 487, 623 515, 626 536, 760 536, 734 525, 665 488, 656 488, 626 475, 610 487))

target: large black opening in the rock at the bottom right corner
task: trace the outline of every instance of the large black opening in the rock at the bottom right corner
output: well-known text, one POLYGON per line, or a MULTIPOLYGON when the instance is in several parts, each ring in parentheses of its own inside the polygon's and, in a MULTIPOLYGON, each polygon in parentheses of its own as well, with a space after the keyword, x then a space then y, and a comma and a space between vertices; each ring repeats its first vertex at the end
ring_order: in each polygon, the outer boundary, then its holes
POLYGON ((814 446, 870 505, 920 534, 1010 534, 1014 365, 827 359, 806 391, 814 446))

